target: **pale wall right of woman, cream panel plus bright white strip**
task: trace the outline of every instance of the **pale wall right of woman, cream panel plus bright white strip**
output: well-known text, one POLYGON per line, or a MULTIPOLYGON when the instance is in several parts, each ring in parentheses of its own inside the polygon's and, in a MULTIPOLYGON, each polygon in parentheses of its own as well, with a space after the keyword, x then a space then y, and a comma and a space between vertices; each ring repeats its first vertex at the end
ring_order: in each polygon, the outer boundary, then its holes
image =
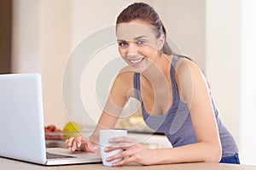
POLYGON ((250 165, 256 165, 255 7, 253 0, 207 0, 207 78, 241 163, 250 165))

